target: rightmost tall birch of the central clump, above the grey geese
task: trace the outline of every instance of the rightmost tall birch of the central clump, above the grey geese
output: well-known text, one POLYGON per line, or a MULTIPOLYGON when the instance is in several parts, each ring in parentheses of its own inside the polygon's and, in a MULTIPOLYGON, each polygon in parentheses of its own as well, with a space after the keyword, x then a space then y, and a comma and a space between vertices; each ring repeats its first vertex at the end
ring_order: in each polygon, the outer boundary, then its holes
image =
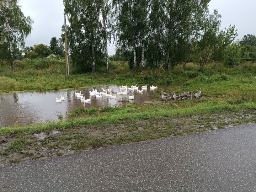
MULTIPOLYGON (((179 59, 176 54, 187 49, 191 39, 202 30, 204 18, 209 14, 210 0, 168 0, 166 3, 165 69, 179 59), (177 46, 183 45, 177 49, 177 46)), ((183 55, 179 55, 182 59, 183 55), (181 57, 182 56, 182 57, 181 57)))

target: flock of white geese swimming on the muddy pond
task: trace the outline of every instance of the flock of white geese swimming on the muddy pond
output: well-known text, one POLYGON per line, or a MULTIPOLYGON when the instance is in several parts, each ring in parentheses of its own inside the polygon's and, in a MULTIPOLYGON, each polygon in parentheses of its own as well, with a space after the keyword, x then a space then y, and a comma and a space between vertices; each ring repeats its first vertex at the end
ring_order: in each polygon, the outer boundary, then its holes
MULTIPOLYGON (((130 100, 133 100, 134 99, 133 91, 136 90, 139 94, 142 94, 143 91, 147 90, 147 86, 148 85, 142 86, 141 90, 139 90, 139 86, 137 87, 137 84, 135 86, 132 85, 130 87, 127 87, 127 85, 126 86, 120 86, 120 91, 117 91, 115 93, 119 94, 119 95, 127 95, 127 90, 130 90, 130 91, 132 91, 132 95, 129 95, 128 98, 130 100)), ((150 86, 150 90, 156 90, 156 89, 158 89, 157 86, 154 86, 154 85, 150 86)), ((113 93, 112 89, 104 90, 104 88, 102 88, 101 92, 98 92, 97 89, 92 89, 92 91, 89 91, 89 93, 90 93, 90 96, 95 96, 96 98, 101 98, 102 96, 110 97, 110 98, 116 98, 116 94, 112 95, 112 93, 113 93)), ((80 100, 83 101, 83 102, 90 102, 91 101, 91 97, 86 99, 84 94, 81 93, 81 91, 75 92, 75 96, 77 98, 80 98, 80 100)), ((60 99, 55 98, 55 100, 56 100, 57 103, 61 103, 62 101, 65 100, 65 98, 61 95, 60 99)))

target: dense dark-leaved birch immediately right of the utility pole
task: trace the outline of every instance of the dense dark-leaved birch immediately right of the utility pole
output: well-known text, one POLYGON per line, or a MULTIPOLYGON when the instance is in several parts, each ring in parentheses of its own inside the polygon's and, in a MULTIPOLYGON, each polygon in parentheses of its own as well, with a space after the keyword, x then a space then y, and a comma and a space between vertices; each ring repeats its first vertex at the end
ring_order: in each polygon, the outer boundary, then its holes
POLYGON ((64 0, 64 11, 68 16, 69 48, 75 64, 81 71, 89 69, 95 73, 95 65, 102 58, 101 23, 99 0, 64 0))

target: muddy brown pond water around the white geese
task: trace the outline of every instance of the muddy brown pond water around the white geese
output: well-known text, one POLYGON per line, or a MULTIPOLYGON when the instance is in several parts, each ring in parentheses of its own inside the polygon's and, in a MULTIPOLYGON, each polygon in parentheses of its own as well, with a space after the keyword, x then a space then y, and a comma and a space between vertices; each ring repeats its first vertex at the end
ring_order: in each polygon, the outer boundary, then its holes
MULTIPOLYGON (((175 88, 181 86, 183 83, 167 84, 167 85, 155 85, 158 86, 158 90, 164 90, 166 88, 175 88)), ((102 98, 96 98, 91 96, 91 102, 85 103, 77 99, 75 92, 82 91, 85 98, 90 98, 89 91, 92 88, 96 88, 98 92, 104 89, 112 89, 113 91, 119 91, 120 87, 116 85, 96 86, 88 87, 80 90, 61 90, 61 91, 43 91, 43 92, 17 92, 13 94, 0 94, 0 127, 13 126, 18 124, 21 126, 37 124, 47 121, 58 121, 56 115, 57 112, 63 113, 64 119, 66 112, 73 111, 74 108, 83 106, 90 108, 92 106, 104 107, 122 106, 127 105, 126 102, 119 102, 118 100, 127 100, 128 95, 132 95, 132 91, 128 90, 127 95, 118 95, 116 98, 109 98, 102 96, 102 98), (56 103, 55 97, 60 98, 60 95, 64 96, 65 101, 62 103, 56 103)), ((141 90, 141 86, 139 86, 141 90)), ((150 97, 153 91, 148 89, 143 94, 134 92, 134 100, 128 100, 130 103, 143 103, 152 99, 150 97)))

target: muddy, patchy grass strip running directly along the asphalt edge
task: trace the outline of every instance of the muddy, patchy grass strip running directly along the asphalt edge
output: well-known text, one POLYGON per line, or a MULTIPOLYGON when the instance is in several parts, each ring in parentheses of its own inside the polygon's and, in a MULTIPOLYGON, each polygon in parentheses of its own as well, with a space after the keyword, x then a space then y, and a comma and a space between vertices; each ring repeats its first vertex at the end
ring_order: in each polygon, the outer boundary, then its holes
POLYGON ((143 119, 111 125, 99 123, 30 134, 7 134, 0 136, 0 166, 248 123, 256 123, 254 110, 178 119, 143 119))

